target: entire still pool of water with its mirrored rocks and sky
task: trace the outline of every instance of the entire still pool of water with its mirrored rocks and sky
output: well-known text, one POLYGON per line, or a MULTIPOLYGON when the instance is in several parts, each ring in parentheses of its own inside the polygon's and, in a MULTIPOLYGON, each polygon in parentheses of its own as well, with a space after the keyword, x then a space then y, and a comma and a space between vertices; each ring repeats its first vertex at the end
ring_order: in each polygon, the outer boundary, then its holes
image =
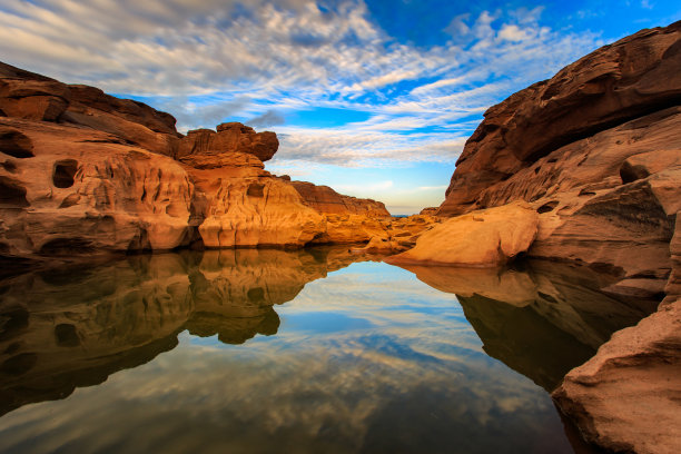
POLYGON ((0 282, 3 453, 572 453, 547 391, 644 312, 608 276, 135 256, 0 282))

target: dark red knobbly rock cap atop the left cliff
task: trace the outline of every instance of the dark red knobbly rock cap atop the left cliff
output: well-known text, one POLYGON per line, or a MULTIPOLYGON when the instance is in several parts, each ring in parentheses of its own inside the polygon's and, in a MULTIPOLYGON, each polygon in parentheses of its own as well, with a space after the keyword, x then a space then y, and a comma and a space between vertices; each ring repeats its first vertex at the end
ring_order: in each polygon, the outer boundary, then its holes
POLYGON ((240 122, 218 125, 211 129, 195 129, 180 140, 177 158, 195 155, 220 155, 226 151, 250 154, 260 161, 272 159, 279 148, 277 135, 270 131, 256 132, 240 122))

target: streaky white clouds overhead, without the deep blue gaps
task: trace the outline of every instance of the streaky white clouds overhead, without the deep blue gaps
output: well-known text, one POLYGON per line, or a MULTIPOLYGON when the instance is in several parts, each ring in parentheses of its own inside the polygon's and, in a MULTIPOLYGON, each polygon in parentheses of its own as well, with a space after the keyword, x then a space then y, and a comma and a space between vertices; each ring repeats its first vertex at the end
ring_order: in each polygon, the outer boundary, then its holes
POLYGON ((236 3, 6 0, 0 55, 67 82, 162 97, 154 106, 180 130, 237 115, 277 126, 275 162, 384 166, 453 162, 490 105, 596 43, 542 27, 541 8, 457 16, 450 42, 423 49, 386 36, 362 0, 333 11, 308 0, 236 3), (389 91, 405 81, 411 91, 389 91), (316 107, 371 118, 323 131, 280 126, 287 111, 316 107))

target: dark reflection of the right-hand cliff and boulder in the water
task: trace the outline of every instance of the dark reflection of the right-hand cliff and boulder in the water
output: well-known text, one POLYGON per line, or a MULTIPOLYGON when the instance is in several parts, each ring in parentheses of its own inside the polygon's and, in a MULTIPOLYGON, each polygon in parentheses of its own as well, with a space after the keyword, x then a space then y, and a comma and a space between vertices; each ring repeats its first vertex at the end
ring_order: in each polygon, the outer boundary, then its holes
POLYGON ((595 354, 610 335, 654 310, 603 289, 616 280, 591 268, 532 261, 525 270, 408 266, 456 294, 490 355, 547 391, 595 354))

